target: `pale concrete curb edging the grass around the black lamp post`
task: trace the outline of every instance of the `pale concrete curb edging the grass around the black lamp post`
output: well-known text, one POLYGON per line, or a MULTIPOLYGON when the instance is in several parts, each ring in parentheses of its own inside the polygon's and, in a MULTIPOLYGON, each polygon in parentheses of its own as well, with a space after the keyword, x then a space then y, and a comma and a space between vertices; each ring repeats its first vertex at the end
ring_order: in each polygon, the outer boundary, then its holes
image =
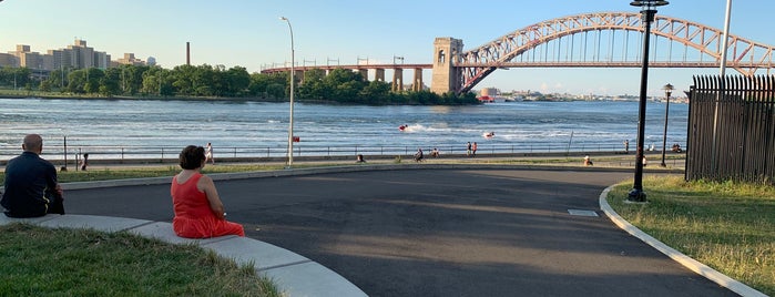
POLYGON ((605 213, 605 215, 608 215, 609 218, 611 218, 611 221, 613 221, 614 224, 616 224, 616 226, 619 226, 623 231, 626 231, 632 236, 638 237, 639 239, 649 244, 650 246, 656 248, 656 250, 660 250, 662 254, 666 255, 667 257, 671 257, 673 260, 680 263, 681 265, 691 269, 692 272, 702 275, 705 278, 718 284, 720 286, 728 288, 730 290, 736 294, 740 294, 741 296, 767 297, 767 295, 765 295, 764 293, 748 287, 747 285, 737 281, 717 272, 716 269, 713 269, 707 265, 693 259, 690 256, 684 255, 683 253, 665 245, 664 243, 652 237, 651 235, 645 234, 643 231, 630 224, 630 222, 626 222, 616 212, 614 212, 611 205, 609 205, 608 201, 605 201, 605 197, 612 188, 613 186, 609 186, 603 191, 603 193, 600 194, 600 208, 605 213))

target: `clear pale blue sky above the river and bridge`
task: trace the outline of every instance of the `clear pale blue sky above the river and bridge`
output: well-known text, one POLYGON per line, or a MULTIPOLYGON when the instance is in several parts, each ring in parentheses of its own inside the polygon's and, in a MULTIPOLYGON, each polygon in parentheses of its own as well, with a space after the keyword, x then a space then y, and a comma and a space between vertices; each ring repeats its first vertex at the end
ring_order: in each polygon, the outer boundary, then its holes
MULTIPOLYGON (((16 44, 32 51, 67 48, 75 39, 113 60, 134 53, 154 57, 164 68, 185 63, 244 66, 248 72, 290 61, 288 25, 297 64, 430 63, 434 39, 461 39, 463 50, 486 44, 528 25, 588 12, 639 12, 630 0, 3 0, 0 2, 0 52, 16 44)), ((726 0, 671 0, 657 14, 724 28, 726 0)), ((775 44, 769 25, 775 1, 733 1, 730 33, 775 44)), ((717 69, 656 69, 649 72, 649 94, 665 83, 689 90, 692 76, 717 69)), ((727 70, 728 74, 736 73, 727 70)), ((374 75, 374 74, 371 74, 374 75)), ((390 74, 386 74, 389 76, 390 74)), ((411 72, 405 71, 405 81, 411 72)), ((497 70, 476 89, 538 90, 573 94, 630 94, 640 90, 641 70, 497 70)), ((424 74, 430 82, 430 71, 424 74)), ((680 92, 679 92, 680 93, 680 92)))

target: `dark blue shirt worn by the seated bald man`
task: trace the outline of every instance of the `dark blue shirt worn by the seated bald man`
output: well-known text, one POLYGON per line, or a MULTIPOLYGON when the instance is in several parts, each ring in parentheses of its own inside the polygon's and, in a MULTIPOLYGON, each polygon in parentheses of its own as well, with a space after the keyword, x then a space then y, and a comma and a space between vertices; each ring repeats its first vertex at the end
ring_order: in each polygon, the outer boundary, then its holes
POLYGON ((55 193, 57 167, 32 152, 23 152, 6 165, 6 192, 0 205, 7 215, 43 216, 49 201, 45 193, 55 193))

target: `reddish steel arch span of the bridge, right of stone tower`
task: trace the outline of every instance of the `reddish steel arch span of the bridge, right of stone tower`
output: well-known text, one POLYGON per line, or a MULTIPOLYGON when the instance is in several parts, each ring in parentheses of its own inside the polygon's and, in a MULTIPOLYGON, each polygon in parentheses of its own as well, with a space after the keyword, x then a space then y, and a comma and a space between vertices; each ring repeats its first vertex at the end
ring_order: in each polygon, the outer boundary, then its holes
MULTIPOLYGON (((563 17, 542 21, 536 24, 499 37, 479 48, 461 52, 455 57, 455 69, 458 72, 459 82, 456 92, 468 92, 477 83, 499 68, 520 66, 511 63, 514 58, 524 54, 550 41, 563 37, 585 33, 590 31, 638 31, 643 32, 643 23, 640 13, 633 12, 598 12, 563 17)), ((687 48, 706 54, 715 60, 710 63, 685 62, 683 66, 707 68, 718 66, 721 62, 721 44, 723 32, 718 29, 701 23, 656 14, 651 33, 680 42, 687 48)), ((775 68, 773 63, 773 47, 757 43, 737 35, 727 38, 727 66, 735 69, 744 75, 754 75, 759 69, 775 68)), ((653 44, 652 44, 653 45, 653 44)), ((450 58, 452 59, 452 58, 450 58)), ((664 66, 675 66, 680 63, 667 63, 664 66)), ((599 64, 598 66, 632 66, 626 63, 599 64)), ((543 65, 551 66, 551 65, 543 65)), ((585 63, 558 63, 554 66, 594 66, 585 63)), ((455 83, 452 83, 455 84, 455 83)))

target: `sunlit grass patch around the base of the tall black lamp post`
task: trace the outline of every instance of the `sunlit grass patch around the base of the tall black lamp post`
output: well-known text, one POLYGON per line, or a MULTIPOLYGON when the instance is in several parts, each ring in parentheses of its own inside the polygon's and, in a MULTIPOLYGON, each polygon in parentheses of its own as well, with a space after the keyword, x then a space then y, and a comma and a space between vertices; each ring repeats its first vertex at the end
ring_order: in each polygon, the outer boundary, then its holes
POLYGON ((775 187, 734 182, 644 178, 647 204, 624 203, 631 183, 608 202, 624 219, 685 255, 775 296, 775 187))

